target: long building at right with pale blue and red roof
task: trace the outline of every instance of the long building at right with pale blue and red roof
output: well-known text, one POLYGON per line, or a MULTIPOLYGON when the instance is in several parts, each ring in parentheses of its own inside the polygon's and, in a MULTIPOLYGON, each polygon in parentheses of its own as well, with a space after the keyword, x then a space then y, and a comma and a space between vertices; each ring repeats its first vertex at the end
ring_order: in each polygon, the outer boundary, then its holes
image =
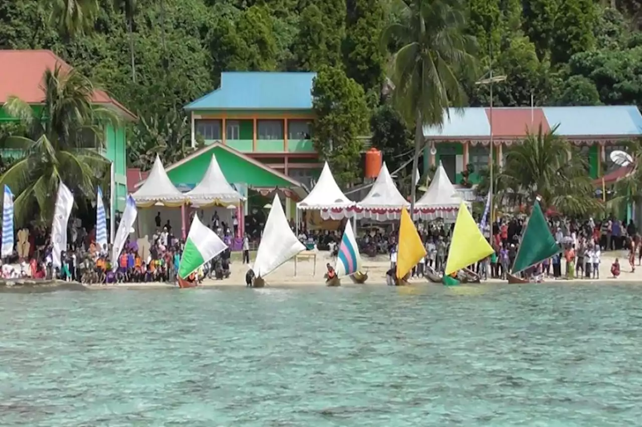
POLYGON ((451 108, 442 128, 424 128, 424 170, 442 162, 451 181, 460 184, 462 171, 471 165, 470 181, 477 183, 490 164, 491 130, 493 158, 501 167, 510 147, 540 126, 544 132, 557 126, 555 133, 579 148, 589 176, 598 178, 617 167, 609 161, 611 151, 624 150, 626 141, 642 136, 642 115, 637 106, 451 108))

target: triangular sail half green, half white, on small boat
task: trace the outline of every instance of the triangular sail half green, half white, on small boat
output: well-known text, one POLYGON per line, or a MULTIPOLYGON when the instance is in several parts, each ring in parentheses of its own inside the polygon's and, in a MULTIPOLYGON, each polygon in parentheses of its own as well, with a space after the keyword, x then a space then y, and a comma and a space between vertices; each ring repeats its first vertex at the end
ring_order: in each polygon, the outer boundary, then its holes
POLYGON ((198 267, 225 251, 225 249, 227 249, 225 242, 214 231, 204 226, 199 221, 198 215, 194 215, 192 225, 189 228, 189 235, 187 235, 187 241, 185 242, 185 249, 183 249, 183 255, 180 257, 178 277, 181 279, 187 278, 198 267))

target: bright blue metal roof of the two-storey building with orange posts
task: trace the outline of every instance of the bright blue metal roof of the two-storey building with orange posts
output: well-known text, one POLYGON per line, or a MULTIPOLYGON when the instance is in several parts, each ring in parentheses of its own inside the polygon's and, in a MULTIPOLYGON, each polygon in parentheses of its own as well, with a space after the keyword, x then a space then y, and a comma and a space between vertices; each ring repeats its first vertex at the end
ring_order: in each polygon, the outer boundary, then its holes
POLYGON ((221 87, 186 110, 311 110, 316 72, 222 72, 221 87))

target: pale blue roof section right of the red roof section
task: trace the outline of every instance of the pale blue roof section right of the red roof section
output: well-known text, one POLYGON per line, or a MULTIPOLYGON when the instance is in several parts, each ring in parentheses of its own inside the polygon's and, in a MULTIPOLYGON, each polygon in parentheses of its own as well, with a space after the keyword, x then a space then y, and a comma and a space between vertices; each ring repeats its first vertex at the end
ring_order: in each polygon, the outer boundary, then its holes
POLYGON ((642 115, 635 105, 542 107, 551 129, 573 136, 642 135, 642 115))

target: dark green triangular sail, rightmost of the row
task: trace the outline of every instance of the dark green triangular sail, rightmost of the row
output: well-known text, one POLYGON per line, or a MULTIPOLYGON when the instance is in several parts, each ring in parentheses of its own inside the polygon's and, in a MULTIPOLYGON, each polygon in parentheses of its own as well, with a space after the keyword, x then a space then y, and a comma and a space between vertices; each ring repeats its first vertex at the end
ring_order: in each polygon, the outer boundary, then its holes
POLYGON ((539 201, 535 201, 533 212, 530 213, 526 230, 522 235, 521 244, 513 264, 513 273, 526 270, 539 264, 546 258, 559 253, 560 247, 548 228, 539 201))

